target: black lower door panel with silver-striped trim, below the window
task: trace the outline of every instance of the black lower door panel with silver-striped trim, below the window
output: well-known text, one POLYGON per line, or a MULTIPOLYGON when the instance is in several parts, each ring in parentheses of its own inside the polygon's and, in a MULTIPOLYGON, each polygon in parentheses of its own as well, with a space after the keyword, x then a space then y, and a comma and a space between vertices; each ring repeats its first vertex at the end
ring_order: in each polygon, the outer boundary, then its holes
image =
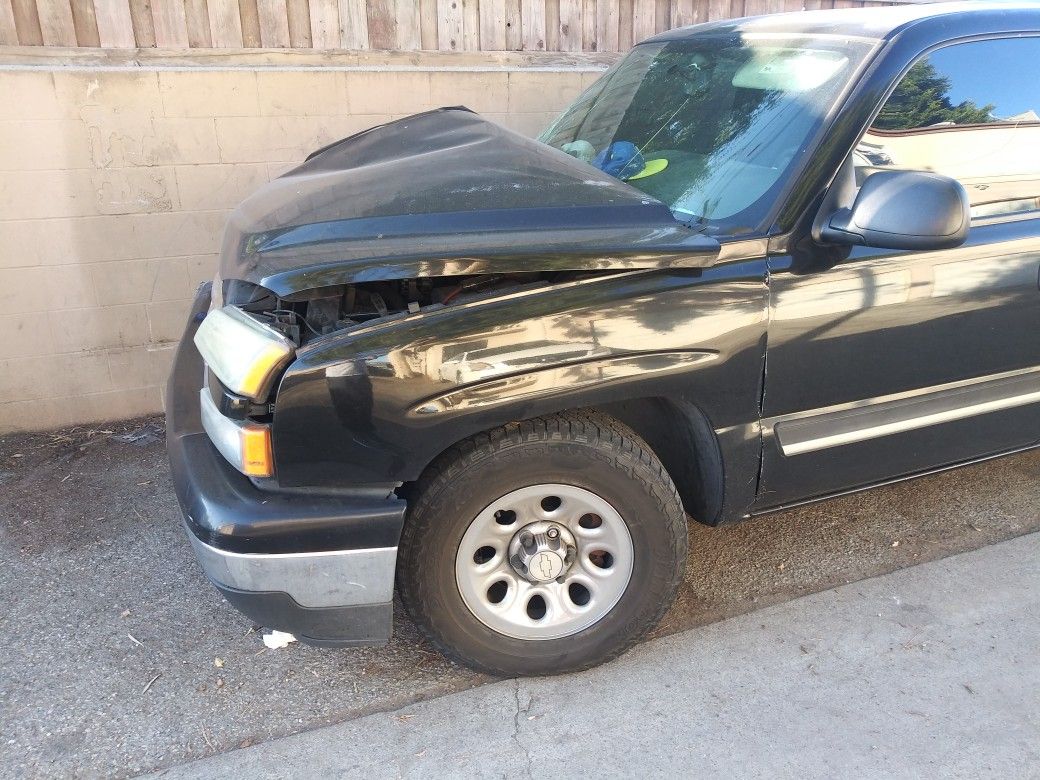
POLYGON ((759 506, 1040 440, 1040 219, 771 266, 759 506))

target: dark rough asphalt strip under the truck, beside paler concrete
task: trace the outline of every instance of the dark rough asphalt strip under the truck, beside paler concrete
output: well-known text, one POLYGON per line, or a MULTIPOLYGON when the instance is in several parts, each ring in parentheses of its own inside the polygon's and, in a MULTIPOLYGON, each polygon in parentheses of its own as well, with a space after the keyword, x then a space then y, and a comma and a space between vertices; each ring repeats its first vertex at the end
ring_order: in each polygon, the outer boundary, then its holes
MULTIPOLYGON (((710 529, 658 633, 1040 529, 1040 452, 710 529)), ((0 776, 129 776, 472 687, 385 648, 265 650, 181 529, 162 423, 0 439, 0 776)))

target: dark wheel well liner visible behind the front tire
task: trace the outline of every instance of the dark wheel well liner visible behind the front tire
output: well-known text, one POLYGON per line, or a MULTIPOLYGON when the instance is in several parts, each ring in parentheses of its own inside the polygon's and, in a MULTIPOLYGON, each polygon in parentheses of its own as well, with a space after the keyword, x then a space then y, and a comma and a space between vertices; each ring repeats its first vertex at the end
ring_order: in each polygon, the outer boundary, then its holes
POLYGON ((714 525, 723 508, 723 462, 707 417, 692 404, 634 398, 597 407, 632 428, 660 459, 686 514, 714 525))

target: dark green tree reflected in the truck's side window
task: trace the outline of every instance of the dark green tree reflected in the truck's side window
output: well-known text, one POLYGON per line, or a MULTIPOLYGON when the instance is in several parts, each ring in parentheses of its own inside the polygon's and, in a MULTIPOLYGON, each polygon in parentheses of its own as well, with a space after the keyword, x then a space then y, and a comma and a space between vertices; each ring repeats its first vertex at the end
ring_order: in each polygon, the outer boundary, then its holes
POLYGON ((879 130, 913 130, 939 123, 980 125, 993 122, 993 105, 978 106, 970 100, 954 105, 950 79, 927 59, 918 61, 885 103, 874 126, 879 130))

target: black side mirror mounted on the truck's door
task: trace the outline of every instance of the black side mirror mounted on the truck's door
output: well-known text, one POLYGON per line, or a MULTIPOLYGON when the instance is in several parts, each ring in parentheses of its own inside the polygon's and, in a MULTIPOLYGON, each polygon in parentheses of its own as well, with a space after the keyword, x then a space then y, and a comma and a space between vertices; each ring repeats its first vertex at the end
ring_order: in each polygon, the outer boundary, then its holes
POLYGON ((968 235, 963 185, 921 171, 879 171, 863 182, 852 208, 831 214, 820 237, 890 250, 945 250, 968 235))

